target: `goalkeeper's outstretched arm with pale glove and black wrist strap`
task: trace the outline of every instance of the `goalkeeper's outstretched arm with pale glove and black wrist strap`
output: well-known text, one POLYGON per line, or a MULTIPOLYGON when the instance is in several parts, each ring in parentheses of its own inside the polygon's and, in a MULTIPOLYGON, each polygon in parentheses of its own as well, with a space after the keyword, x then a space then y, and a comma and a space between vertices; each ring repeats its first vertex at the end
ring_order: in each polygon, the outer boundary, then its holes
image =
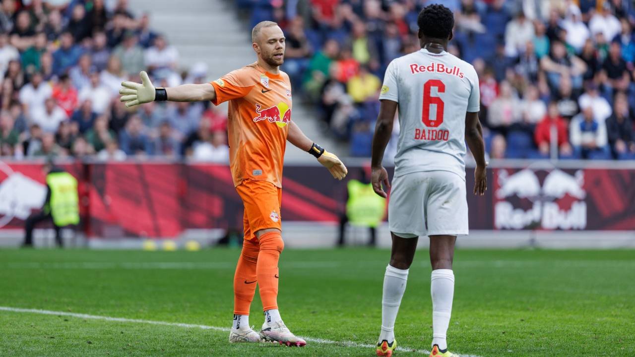
POLYGON ((216 91, 210 83, 182 84, 172 88, 155 88, 145 71, 139 76, 141 83, 125 81, 121 83, 119 94, 126 107, 145 104, 154 100, 170 100, 171 102, 200 102, 214 100, 216 91))

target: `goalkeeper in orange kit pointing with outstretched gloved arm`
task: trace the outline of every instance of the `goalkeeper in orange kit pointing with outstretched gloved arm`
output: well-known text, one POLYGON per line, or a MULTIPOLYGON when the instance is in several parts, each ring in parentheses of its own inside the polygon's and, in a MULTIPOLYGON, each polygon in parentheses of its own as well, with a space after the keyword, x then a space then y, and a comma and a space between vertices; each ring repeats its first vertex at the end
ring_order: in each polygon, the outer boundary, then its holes
POLYGON ((211 100, 215 105, 229 100, 229 165, 244 204, 244 243, 234 275, 234 323, 229 341, 304 346, 306 342, 284 325, 277 306, 277 263, 284 247, 280 205, 286 141, 315 156, 335 179, 344 179, 347 170, 337 156, 314 144, 291 121, 291 83, 279 69, 285 46, 280 27, 275 22, 260 22, 251 31, 251 39, 257 62, 211 83, 154 88, 141 72, 142 83, 123 82, 119 93, 127 107, 154 100, 211 100), (256 285, 265 312, 260 333, 249 325, 256 285))

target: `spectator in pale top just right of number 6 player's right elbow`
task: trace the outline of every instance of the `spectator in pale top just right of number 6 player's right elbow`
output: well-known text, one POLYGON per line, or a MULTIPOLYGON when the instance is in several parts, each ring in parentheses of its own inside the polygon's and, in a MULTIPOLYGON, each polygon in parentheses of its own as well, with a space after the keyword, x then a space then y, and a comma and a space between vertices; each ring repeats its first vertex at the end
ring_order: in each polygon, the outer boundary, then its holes
POLYGON ((500 95, 491 102, 487 111, 488 126, 499 133, 507 133, 509 126, 521 119, 520 105, 512 86, 503 81, 499 86, 500 95))

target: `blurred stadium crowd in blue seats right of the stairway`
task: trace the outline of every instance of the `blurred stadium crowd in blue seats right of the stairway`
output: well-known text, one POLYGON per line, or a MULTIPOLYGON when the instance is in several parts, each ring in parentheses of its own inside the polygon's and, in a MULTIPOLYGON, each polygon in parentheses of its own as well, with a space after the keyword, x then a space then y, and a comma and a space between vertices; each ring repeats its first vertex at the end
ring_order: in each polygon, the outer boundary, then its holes
POLYGON ((238 3, 250 9, 252 24, 281 24, 283 69, 317 105, 324 127, 351 143, 353 156, 370 156, 385 68, 420 48, 418 11, 440 3, 455 13, 448 50, 478 72, 492 158, 635 158, 632 1, 238 3))

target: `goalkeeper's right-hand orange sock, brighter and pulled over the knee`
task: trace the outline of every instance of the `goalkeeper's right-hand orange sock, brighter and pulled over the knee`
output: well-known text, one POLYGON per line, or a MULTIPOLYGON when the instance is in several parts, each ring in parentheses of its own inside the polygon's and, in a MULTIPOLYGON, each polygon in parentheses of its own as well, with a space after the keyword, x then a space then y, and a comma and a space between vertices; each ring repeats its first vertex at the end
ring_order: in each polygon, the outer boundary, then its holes
POLYGON ((284 248, 280 232, 267 232, 260 236, 260 253, 256 274, 260 286, 260 299, 263 310, 277 309, 277 262, 284 248))

